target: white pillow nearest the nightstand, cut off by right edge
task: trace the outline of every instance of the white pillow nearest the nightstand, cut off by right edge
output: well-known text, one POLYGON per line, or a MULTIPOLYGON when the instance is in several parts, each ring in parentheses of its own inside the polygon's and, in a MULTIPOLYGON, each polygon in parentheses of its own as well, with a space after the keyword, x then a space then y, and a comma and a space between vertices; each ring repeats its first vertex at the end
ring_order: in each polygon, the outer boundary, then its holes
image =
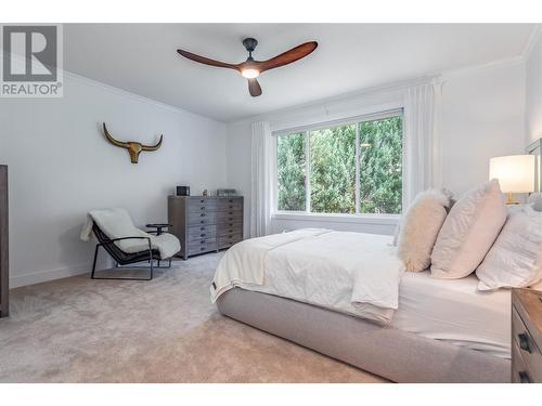
POLYGON ((529 206, 513 210, 476 276, 478 290, 526 288, 542 279, 542 213, 529 206))

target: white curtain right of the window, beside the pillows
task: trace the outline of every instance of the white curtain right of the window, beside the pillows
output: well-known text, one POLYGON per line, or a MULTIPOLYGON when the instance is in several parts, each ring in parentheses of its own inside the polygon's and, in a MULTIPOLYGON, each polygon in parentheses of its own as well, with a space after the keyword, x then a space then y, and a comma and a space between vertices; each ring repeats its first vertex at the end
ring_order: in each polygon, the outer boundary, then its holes
POLYGON ((404 100, 403 211, 416 194, 442 187, 439 134, 442 82, 409 88, 404 100))

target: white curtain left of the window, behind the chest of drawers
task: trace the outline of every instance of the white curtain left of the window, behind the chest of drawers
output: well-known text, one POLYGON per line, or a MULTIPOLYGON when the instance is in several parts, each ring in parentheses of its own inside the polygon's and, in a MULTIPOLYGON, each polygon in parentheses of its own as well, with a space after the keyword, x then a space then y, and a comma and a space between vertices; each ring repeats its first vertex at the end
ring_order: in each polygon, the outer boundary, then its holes
POLYGON ((261 237, 271 233, 275 148, 269 122, 253 122, 251 130, 250 237, 261 237))

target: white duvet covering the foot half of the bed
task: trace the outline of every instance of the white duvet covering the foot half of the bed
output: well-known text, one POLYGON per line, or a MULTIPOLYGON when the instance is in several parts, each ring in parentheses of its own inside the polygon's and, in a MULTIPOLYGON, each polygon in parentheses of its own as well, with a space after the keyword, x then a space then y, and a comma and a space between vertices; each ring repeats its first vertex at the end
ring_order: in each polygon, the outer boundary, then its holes
POLYGON ((211 300, 234 287, 389 323, 404 267, 389 236, 305 228, 244 240, 220 261, 211 300), (349 303, 343 303, 348 300, 349 303))

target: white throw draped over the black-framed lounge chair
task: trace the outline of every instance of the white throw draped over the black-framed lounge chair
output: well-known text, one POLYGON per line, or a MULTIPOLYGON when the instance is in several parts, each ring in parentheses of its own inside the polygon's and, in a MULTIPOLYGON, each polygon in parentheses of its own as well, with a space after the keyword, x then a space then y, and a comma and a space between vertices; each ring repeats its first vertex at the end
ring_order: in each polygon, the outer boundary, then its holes
MULTIPOLYGON (((111 239, 124 237, 149 237, 151 247, 160 253, 160 259, 171 258, 181 250, 179 239, 171 234, 152 235, 133 225, 130 214, 126 209, 92 210, 87 215, 87 223, 81 231, 81 239, 88 241, 92 233, 92 225, 96 223, 100 230, 111 239)), ((115 245, 128 253, 149 250, 146 238, 125 239, 115 241, 115 245)))

